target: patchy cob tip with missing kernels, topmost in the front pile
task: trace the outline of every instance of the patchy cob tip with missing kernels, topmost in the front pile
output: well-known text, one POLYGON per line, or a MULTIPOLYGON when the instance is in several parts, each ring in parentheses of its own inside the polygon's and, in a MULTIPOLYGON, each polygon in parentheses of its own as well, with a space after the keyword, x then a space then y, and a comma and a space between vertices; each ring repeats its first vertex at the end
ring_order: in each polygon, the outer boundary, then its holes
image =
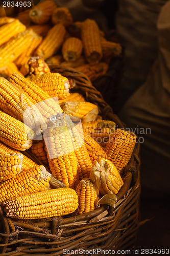
POLYGON ((50 73, 50 69, 41 57, 31 57, 28 61, 29 76, 50 73))

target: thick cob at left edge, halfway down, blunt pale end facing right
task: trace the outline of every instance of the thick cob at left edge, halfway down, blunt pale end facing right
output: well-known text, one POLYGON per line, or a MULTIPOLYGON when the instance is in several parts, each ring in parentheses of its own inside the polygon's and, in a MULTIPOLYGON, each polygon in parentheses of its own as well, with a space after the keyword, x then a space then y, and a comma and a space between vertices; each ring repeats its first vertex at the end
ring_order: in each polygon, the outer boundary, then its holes
POLYGON ((16 150, 32 146, 34 132, 26 124, 0 111, 0 140, 16 150))

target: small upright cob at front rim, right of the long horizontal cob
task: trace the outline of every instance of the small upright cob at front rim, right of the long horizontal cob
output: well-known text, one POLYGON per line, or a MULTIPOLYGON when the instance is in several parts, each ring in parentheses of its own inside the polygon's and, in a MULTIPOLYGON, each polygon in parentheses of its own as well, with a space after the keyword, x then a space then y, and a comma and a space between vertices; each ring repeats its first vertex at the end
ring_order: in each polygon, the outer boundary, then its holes
POLYGON ((92 211, 96 208, 98 195, 92 180, 88 178, 82 179, 79 185, 76 187, 76 192, 79 199, 78 213, 80 215, 92 211))

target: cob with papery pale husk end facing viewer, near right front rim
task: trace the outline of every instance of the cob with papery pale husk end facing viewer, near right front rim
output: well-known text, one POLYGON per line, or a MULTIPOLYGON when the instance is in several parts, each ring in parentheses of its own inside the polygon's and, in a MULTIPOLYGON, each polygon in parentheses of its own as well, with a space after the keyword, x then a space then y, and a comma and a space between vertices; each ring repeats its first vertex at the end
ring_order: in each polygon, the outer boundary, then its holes
POLYGON ((102 195, 116 195, 124 184, 114 164, 105 158, 93 162, 90 179, 102 195))

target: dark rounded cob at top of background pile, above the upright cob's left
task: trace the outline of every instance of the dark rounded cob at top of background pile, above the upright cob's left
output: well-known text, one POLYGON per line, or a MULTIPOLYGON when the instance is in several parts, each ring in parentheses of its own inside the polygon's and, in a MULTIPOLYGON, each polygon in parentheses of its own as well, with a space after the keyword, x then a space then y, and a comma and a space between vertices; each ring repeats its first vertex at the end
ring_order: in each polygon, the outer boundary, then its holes
POLYGON ((59 7, 52 14, 52 23, 54 25, 60 23, 65 27, 68 27, 72 24, 72 16, 67 8, 59 7))

